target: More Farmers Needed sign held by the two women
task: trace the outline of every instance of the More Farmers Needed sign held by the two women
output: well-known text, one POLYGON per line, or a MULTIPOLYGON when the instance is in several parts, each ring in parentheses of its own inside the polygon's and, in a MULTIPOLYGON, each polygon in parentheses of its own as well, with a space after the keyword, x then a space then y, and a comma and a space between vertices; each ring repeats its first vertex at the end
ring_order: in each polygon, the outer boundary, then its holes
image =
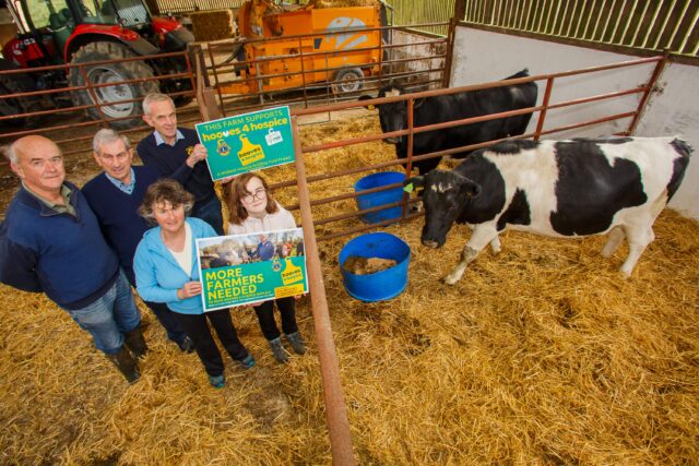
POLYGON ((204 311, 308 291, 301 228, 197 240, 204 311))

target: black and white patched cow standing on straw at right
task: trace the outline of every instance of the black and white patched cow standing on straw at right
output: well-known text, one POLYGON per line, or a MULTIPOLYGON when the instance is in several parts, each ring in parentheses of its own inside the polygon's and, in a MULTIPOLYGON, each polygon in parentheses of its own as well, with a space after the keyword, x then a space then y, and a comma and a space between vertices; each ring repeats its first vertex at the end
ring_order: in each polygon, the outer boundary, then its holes
POLYGON ((441 247, 457 223, 473 226, 461 261, 445 277, 455 284, 506 228, 554 237, 609 234, 602 255, 626 237, 630 276, 653 241, 653 222, 679 188, 691 147, 677 138, 505 141, 474 152, 451 171, 405 183, 422 187, 423 244, 441 247))

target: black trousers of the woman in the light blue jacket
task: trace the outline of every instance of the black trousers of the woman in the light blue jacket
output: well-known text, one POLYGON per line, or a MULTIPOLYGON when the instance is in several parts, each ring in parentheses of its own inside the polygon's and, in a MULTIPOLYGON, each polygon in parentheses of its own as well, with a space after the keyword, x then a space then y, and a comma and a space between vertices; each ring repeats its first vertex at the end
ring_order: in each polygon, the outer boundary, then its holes
POLYGON ((228 309, 220 309, 217 311, 204 312, 203 314, 180 314, 174 312, 177 316, 177 321, 185 328, 185 332, 189 335, 197 349, 197 355, 204 365, 206 373, 209 375, 223 374, 223 358, 214 342, 214 337, 209 330, 206 320, 211 322, 211 325, 216 331, 218 339, 226 348, 226 351, 236 361, 241 361, 247 358, 249 353, 245 346, 238 339, 238 333, 236 327, 233 326, 230 320, 230 311, 228 309))

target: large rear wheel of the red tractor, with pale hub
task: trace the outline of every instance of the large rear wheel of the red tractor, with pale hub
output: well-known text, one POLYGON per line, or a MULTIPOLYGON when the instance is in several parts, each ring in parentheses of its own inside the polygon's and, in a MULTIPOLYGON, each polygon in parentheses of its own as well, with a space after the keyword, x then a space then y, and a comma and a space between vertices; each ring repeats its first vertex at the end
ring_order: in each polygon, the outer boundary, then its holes
MULTIPOLYGON (((137 55, 121 44, 100 41, 87 44, 78 49, 73 55, 71 63, 91 63, 133 57, 137 57, 137 55)), ((68 74, 71 86, 84 86, 85 76, 88 83, 93 85, 109 83, 114 83, 114 85, 74 91, 72 94, 73 103, 75 105, 117 103, 100 108, 91 107, 87 109, 90 117, 95 120, 100 119, 103 115, 108 119, 119 118, 119 121, 109 122, 115 129, 132 128, 140 124, 140 116, 142 113, 140 100, 149 93, 158 92, 157 81, 125 83, 125 81, 153 77, 153 69, 142 60, 87 64, 83 67, 82 73, 80 68, 75 67, 71 68, 68 74)))

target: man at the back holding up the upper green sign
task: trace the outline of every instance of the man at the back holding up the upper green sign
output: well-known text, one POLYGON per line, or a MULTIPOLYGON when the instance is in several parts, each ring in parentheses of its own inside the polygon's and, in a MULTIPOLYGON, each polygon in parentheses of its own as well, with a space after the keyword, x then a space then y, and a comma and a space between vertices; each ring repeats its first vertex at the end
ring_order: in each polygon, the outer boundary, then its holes
POLYGON ((206 222, 218 235, 225 235, 221 201, 203 162, 208 156, 206 147, 199 143, 197 131, 177 127, 175 104, 165 94, 145 96, 143 121, 155 130, 137 146, 143 164, 161 177, 179 181, 194 195, 190 215, 206 222))

